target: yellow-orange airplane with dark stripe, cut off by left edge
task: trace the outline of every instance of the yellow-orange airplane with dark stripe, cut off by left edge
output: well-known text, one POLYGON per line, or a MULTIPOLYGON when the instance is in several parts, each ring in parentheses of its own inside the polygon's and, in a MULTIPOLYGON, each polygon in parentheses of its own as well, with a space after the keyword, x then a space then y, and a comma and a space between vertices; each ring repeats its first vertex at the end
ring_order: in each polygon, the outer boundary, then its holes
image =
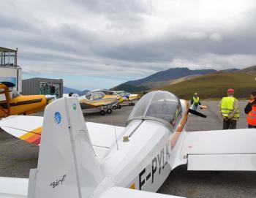
POLYGON ((53 99, 53 96, 46 98, 45 95, 23 96, 14 87, 13 83, 0 82, 0 118, 36 113, 53 99))

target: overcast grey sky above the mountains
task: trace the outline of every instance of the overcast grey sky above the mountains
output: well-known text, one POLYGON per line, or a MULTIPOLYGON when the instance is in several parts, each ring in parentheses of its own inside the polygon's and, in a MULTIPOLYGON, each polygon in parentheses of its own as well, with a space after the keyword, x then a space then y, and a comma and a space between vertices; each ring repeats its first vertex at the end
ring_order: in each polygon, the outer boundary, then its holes
POLYGON ((23 78, 110 88, 170 67, 256 64, 256 1, 1 1, 0 46, 18 47, 23 78))

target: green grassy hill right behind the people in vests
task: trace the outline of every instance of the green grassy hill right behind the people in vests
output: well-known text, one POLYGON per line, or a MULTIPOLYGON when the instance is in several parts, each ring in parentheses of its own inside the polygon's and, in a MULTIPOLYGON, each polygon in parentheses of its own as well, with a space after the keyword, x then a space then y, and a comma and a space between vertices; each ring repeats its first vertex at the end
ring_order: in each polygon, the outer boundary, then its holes
POLYGON ((170 91, 183 99, 190 99, 195 92, 200 99, 214 99, 226 96, 227 88, 235 89, 235 96, 248 98, 256 89, 255 75, 244 72, 215 72, 184 80, 173 85, 157 88, 170 91))

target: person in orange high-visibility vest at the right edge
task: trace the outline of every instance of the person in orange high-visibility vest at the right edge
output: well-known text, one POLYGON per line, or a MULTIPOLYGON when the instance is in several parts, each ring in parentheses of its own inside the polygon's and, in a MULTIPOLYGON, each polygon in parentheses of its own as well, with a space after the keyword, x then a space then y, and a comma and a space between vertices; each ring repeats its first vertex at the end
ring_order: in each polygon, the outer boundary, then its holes
POLYGON ((244 113, 246 113, 248 128, 256 129, 256 91, 252 92, 251 100, 244 108, 244 113))

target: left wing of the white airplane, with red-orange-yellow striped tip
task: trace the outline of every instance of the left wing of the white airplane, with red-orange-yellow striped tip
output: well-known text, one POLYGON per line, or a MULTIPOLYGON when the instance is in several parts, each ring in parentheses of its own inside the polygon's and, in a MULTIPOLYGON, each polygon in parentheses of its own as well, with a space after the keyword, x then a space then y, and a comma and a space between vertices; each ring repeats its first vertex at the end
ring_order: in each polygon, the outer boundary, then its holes
MULTIPOLYGON (((0 121, 5 132, 34 145, 40 144, 43 117, 30 115, 11 115, 0 121)), ((122 126, 104 123, 86 122, 86 126, 94 146, 110 148, 116 142, 116 136, 124 131, 122 126), (116 134, 115 134, 116 131, 116 134)))

